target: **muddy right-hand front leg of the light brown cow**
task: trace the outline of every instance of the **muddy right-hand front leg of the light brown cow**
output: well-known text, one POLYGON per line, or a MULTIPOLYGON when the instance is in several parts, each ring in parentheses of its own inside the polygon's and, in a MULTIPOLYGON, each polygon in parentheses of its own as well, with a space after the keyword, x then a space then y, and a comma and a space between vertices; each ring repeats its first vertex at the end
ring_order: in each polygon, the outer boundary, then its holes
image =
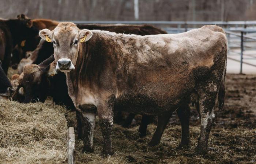
POLYGON ((98 102, 97 111, 99 116, 99 125, 103 136, 102 156, 113 155, 111 132, 113 126, 113 106, 115 97, 111 96, 106 102, 98 102))

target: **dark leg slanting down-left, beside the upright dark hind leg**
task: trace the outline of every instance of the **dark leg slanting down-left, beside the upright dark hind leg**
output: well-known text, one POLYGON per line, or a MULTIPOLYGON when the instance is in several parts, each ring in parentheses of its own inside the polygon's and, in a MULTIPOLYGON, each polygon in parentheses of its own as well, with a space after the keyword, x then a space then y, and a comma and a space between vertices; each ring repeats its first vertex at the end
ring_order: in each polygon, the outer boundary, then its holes
POLYGON ((165 127, 168 124, 171 116, 172 112, 166 112, 164 114, 158 115, 157 130, 155 131, 148 145, 155 146, 160 143, 163 131, 165 130, 165 127))

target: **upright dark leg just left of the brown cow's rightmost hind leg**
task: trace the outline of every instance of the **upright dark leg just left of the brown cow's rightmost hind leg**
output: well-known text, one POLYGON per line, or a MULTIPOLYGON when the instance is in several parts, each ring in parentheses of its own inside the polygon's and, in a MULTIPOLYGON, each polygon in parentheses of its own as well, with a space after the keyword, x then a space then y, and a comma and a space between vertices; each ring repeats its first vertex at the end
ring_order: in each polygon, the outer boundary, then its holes
POLYGON ((188 104, 182 105, 177 110, 178 117, 180 118, 181 123, 181 143, 179 147, 188 147, 189 146, 189 116, 190 116, 190 107, 188 104))

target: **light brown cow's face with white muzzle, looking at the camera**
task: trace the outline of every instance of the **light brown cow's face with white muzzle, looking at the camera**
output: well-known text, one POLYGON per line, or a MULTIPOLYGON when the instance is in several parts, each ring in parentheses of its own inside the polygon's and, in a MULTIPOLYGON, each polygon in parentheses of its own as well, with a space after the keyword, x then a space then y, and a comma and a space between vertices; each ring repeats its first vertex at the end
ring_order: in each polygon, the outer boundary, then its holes
POLYGON ((42 39, 53 42, 56 70, 69 72, 75 69, 79 47, 87 42, 93 33, 90 30, 79 30, 74 23, 62 22, 53 30, 39 32, 42 39))

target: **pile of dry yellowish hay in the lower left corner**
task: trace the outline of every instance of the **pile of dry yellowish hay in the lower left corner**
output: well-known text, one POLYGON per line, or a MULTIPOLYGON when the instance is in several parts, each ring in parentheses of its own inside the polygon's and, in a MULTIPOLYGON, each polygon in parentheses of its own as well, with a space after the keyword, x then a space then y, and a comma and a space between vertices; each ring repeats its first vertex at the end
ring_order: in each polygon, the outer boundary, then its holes
POLYGON ((66 163, 65 110, 0 100, 0 163, 66 163))

